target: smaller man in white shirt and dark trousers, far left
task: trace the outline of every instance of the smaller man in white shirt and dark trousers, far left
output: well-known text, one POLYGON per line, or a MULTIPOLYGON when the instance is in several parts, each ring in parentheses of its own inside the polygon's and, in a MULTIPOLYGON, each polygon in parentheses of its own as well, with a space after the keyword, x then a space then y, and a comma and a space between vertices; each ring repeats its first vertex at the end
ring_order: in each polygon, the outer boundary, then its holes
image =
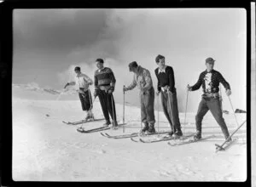
POLYGON ((85 120, 94 120, 94 116, 92 113, 92 101, 91 101, 91 94, 89 85, 93 82, 90 77, 86 76, 84 73, 81 72, 81 68, 79 66, 75 67, 74 69, 77 76, 75 77, 74 82, 67 82, 64 88, 67 86, 74 86, 76 85, 79 90, 79 99, 81 101, 82 110, 86 112, 85 120))

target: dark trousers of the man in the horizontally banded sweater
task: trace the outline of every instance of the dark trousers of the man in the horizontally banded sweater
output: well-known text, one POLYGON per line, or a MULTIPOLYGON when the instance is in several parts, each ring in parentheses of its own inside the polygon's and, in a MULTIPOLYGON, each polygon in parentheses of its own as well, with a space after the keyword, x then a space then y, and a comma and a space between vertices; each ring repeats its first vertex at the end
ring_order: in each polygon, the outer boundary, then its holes
POLYGON ((102 112, 107 122, 110 122, 108 113, 110 114, 113 122, 116 121, 115 104, 113 94, 108 94, 104 90, 99 89, 98 96, 102 105, 102 112))

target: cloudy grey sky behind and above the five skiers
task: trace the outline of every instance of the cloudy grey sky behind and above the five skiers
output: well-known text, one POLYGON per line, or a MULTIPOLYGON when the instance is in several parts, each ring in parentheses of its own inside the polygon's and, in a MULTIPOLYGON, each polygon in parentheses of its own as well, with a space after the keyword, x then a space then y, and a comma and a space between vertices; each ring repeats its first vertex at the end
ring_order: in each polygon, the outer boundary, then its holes
MULTIPOLYGON (((162 54, 174 70, 183 112, 186 86, 195 84, 212 57, 214 69, 230 82, 234 108, 246 110, 243 8, 15 9, 13 19, 13 83, 61 89, 73 80, 77 65, 93 79, 95 59, 102 58, 117 79, 114 98, 122 103, 122 87, 133 77, 128 64, 135 60, 147 68, 156 88, 154 59, 162 54)), ((188 112, 197 111, 201 94, 201 89, 189 93, 188 112)), ((138 105, 137 88, 125 101, 138 105)), ((225 95, 224 109, 231 111, 225 95)))

